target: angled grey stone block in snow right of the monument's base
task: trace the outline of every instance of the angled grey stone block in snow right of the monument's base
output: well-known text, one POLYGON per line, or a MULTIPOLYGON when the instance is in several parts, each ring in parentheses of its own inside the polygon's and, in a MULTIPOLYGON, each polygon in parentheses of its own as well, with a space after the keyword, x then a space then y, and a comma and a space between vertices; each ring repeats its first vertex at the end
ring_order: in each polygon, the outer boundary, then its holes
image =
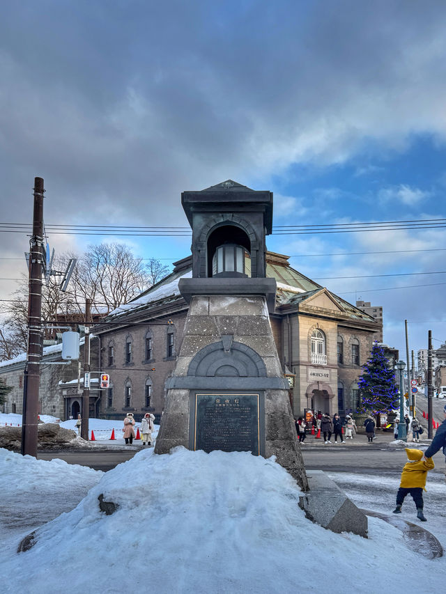
POLYGON ((299 498, 307 518, 332 532, 367 538, 367 515, 321 470, 307 470, 309 492, 299 498))

